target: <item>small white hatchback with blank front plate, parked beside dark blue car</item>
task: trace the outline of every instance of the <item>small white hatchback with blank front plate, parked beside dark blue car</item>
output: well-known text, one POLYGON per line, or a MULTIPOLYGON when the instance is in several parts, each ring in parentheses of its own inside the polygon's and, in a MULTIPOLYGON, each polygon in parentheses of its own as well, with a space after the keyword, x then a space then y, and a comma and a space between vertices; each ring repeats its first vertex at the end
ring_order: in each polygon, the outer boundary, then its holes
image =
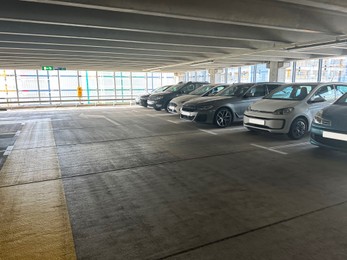
POLYGON ((315 114, 347 92, 347 83, 292 83, 283 85, 248 107, 244 126, 302 138, 315 114))

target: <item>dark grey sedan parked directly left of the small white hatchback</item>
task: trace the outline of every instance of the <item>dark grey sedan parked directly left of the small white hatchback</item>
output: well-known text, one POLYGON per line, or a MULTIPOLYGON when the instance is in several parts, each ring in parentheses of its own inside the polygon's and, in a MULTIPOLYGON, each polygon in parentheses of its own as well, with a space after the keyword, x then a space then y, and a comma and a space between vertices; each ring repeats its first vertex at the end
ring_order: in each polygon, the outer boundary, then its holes
POLYGON ((181 118, 227 127, 242 121, 243 113, 253 102, 282 85, 277 82, 240 83, 224 89, 213 97, 196 98, 183 104, 181 118))

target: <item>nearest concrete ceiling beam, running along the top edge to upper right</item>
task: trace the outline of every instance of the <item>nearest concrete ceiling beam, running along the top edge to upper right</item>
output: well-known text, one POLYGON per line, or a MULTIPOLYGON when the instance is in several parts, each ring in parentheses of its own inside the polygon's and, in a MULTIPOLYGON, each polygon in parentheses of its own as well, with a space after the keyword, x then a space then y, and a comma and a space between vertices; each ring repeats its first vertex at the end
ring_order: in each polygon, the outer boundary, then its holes
POLYGON ((92 0, 26 1, 288 31, 347 33, 344 26, 346 17, 340 13, 332 16, 324 9, 304 8, 279 1, 177 0, 165 4, 158 4, 155 0, 101 0, 97 4, 92 0))

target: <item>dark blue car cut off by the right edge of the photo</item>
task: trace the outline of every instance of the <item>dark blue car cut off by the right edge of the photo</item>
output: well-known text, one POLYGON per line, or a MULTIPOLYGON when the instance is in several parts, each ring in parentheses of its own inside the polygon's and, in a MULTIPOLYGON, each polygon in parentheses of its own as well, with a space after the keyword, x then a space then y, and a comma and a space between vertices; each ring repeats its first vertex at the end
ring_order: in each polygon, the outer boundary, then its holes
POLYGON ((313 119, 311 143, 347 150, 347 93, 313 119))

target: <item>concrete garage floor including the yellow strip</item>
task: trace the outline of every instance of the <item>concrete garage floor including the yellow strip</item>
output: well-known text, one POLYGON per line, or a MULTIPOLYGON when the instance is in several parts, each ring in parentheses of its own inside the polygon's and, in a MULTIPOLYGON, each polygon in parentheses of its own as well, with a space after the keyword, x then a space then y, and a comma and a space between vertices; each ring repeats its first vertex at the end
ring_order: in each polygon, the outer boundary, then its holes
POLYGON ((1 112, 0 133, 0 259, 347 259, 347 154, 308 137, 137 106, 1 112))

